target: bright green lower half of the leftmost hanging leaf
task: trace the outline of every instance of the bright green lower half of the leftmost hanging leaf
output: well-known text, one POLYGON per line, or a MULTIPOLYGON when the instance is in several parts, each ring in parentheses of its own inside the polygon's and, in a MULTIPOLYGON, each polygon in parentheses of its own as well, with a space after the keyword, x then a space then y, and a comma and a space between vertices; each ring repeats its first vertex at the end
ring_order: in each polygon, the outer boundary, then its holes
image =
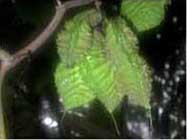
POLYGON ((81 76, 81 67, 66 68, 60 63, 55 72, 55 83, 66 110, 88 104, 95 96, 81 76))

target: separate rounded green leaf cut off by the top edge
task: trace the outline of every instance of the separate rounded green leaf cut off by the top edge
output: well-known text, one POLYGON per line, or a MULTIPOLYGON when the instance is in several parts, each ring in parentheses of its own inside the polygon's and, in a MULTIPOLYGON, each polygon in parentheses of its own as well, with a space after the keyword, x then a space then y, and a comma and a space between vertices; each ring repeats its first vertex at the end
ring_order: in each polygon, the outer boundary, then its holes
POLYGON ((161 23, 166 4, 167 0, 123 0, 120 12, 138 32, 142 32, 161 23))

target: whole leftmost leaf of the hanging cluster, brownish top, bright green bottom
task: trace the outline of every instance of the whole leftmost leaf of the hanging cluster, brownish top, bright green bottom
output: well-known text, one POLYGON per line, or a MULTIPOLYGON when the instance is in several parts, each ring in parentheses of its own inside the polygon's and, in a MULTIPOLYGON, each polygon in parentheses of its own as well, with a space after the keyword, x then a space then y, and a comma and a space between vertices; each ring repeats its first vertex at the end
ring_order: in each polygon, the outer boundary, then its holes
POLYGON ((87 68, 85 58, 92 40, 89 19, 92 15, 93 20, 95 14, 95 10, 77 14, 66 22, 65 30, 58 34, 60 62, 55 71, 55 85, 66 110, 84 106, 95 98, 94 91, 82 76, 87 68))

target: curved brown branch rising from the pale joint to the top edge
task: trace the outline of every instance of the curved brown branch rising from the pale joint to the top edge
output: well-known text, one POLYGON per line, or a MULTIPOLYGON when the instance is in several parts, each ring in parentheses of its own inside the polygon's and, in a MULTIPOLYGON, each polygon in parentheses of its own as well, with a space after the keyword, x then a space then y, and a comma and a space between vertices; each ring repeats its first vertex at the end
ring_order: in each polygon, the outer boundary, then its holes
POLYGON ((7 70, 14 68, 21 61, 23 61, 28 56, 28 54, 34 54, 39 48, 41 48, 44 43, 50 38, 50 36, 55 32, 67 10, 83 5, 88 5, 94 1, 95 0, 71 0, 65 2, 64 4, 61 4, 57 0, 55 15, 53 16, 47 27, 36 37, 36 39, 26 45, 23 49, 17 51, 12 56, 10 60, 11 63, 7 70))

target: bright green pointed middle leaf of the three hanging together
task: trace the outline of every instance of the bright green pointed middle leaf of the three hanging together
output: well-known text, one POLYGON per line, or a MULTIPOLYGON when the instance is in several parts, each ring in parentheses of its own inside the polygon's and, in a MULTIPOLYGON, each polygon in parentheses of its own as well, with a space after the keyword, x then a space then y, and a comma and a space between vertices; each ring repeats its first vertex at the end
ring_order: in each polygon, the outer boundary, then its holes
POLYGON ((112 113, 120 104, 122 96, 118 95, 115 82, 115 70, 107 59, 104 36, 93 32, 92 46, 85 59, 86 67, 83 69, 83 77, 89 88, 94 92, 105 108, 112 113))

